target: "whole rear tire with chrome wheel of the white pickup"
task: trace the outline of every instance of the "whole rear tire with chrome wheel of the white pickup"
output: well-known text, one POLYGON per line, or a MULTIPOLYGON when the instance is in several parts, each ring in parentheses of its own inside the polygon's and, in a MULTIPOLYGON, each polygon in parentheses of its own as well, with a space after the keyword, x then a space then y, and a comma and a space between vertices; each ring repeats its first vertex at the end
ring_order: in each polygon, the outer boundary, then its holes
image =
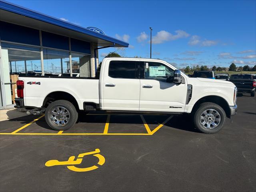
POLYGON ((76 123, 77 118, 76 108, 66 100, 54 101, 45 110, 45 120, 54 130, 68 130, 76 123))

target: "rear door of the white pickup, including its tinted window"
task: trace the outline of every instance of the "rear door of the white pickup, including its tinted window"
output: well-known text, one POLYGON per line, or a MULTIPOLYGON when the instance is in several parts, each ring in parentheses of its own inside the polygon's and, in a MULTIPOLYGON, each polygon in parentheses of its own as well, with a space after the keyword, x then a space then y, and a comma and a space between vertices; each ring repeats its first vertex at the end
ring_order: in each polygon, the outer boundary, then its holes
POLYGON ((100 96, 104 110, 139 110, 139 63, 132 60, 106 61, 100 96))

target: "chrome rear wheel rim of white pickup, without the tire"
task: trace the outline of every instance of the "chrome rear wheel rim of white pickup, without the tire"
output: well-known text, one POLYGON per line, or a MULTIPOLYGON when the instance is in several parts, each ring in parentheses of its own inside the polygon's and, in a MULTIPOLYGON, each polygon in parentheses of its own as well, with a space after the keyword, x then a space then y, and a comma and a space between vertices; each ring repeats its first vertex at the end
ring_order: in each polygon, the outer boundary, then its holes
POLYGON ((70 120, 70 113, 64 107, 54 107, 50 112, 50 119, 55 125, 64 126, 70 120))

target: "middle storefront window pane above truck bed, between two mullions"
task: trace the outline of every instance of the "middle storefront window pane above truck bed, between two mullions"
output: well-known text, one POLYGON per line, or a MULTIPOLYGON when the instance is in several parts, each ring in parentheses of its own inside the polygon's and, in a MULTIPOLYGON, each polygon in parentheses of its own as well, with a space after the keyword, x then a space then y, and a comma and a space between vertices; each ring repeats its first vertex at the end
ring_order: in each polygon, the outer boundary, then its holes
POLYGON ((70 69, 69 52, 43 49, 43 55, 44 76, 66 76, 70 69))

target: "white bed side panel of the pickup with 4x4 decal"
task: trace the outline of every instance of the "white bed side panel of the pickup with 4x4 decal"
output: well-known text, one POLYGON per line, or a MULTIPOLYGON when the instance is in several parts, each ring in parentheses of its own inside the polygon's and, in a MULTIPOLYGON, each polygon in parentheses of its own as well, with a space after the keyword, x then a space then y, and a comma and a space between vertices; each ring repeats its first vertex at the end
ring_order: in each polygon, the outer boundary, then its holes
POLYGON ((86 77, 19 77, 24 81, 24 105, 41 107, 44 98, 52 92, 67 92, 83 110, 83 102, 99 103, 99 79, 86 77))

